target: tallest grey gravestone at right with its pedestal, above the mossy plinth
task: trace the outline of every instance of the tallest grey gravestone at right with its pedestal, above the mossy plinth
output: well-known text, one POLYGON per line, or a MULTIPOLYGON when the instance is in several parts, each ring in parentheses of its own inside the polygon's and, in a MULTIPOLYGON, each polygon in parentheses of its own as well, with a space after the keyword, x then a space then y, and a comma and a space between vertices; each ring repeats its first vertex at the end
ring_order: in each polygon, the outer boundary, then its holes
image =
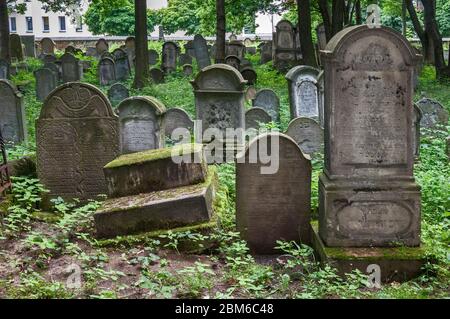
POLYGON ((327 98, 320 238, 332 247, 418 246, 421 195, 412 145, 418 57, 400 33, 367 25, 339 32, 321 53, 327 98))

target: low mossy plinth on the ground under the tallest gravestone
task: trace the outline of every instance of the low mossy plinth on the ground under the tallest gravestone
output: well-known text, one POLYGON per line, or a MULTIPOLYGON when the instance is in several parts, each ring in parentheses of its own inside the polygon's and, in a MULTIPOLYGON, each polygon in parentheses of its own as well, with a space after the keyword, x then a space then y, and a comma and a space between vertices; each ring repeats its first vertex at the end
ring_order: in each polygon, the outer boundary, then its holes
POLYGON ((375 264, 380 266, 382 282, 403 282, 419 276, 426 262, 424 247, 327 247, 317 225, 311 227, 316 256, 322 263, 336 268, 341 276, 355 269, 366 274, 367 266, 375 264))

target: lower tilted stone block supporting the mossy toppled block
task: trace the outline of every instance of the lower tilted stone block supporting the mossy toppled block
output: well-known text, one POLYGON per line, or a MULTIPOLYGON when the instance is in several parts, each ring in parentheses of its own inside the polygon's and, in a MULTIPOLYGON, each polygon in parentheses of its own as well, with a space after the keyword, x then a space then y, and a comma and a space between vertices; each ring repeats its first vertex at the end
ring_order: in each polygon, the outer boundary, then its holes
POLYGON ((208 222, 216 182, 210 168, 205 183, 106 200, 94 214, 97 237, 138 234, 208 222))

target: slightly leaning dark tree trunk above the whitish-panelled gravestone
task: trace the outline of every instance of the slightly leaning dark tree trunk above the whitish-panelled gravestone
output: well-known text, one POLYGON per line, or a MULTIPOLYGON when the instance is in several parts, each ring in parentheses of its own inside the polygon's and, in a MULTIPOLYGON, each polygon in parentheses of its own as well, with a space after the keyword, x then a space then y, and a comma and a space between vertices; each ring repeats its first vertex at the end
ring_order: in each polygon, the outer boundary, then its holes
POLYGON ((311 35, 311 7, 309 0, 297 0, 298 32, 302 46, 303 64, 317 67, 311 35))

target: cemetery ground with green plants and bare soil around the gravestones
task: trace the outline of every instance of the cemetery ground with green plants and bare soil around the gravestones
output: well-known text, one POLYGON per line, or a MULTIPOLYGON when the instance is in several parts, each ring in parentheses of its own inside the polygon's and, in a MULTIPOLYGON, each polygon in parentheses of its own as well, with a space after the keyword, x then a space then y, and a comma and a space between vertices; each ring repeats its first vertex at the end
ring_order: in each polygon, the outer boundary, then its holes
MULTIPOLYGON (((160 43, 152 46, 161 48, 160 43)), ((280 97, 281 123, 270 123, 268 128, 285 131, 290 114, 284 76, 273 70, 271 63, 258 65, 256 55, 247 58, 255 65, 258 88, 273 89, 280 97)), ((84 81, 106 94, 109 86, 99 85, 97 62, 92 59, 92 63, 84 81)), ((27 65, 28 70, 12 80, 24 92, 29 141, 9 149, 10 160, 35 156, 34 123, 42 103, 35 97, 33 71, 41 62, 29 59, 27 65)), ((139 92, 131 90, 130 95, 153 96, 168 108, 180 107, 193 116, 190 79, 179 68, 165 83, 148 85, 139 92)), ((130 84, 131 79, 126 85, 130 84)), ((415 100, 422 93, 450 111, 450 83, 435 81, 431 67, 425 67, 420 76, 415 100)), ((311 248, 289 242, 279 242, 281 256, 252 257, 235 227, 235 166, 225 164, 217 166, 216 223, 109 240, 97 239, 93 227, 93 213, 102 198, 85 205, 57 200, 51 209, 44 209, 41 196, 45 190, 36 176, 14 178, 12 194, 0 209, 0 298, 449 297, 450 164, 445 145, 449 129, 423 137, 416 160, 415 177, 422 187, 422 242, 428 263, 413 281, 368 288, 366 274, 340 277, 335 269, 320 267, 311 248), (74 280, 77 272, 81 274, 80 287, 74 280)), ((33 172, 32 166, 23 169, 33 172)), ((317 218, 321 170, 321 159, 314 159, 313 219, 317 218)))

